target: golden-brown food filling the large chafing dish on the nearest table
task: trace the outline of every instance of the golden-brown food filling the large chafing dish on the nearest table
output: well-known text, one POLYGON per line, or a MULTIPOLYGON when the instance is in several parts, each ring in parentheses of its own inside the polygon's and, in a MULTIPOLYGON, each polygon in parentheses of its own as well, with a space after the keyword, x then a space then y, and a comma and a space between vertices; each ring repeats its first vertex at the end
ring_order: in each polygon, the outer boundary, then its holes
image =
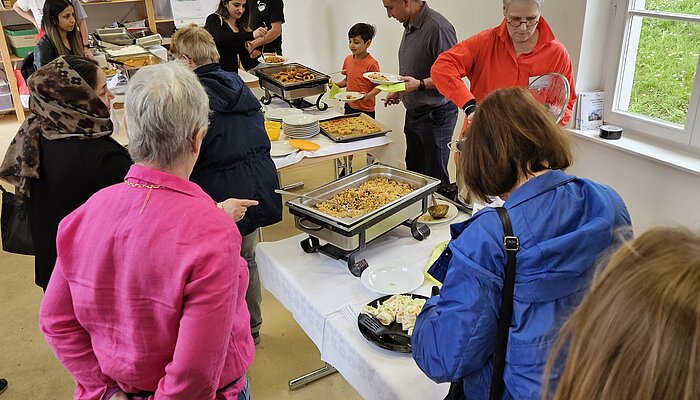
POLYGON ((360 217, 412 191, 413 188, 407 183, 389 178, 373 178, 315 204, 314 208, 338 218, 360 217))

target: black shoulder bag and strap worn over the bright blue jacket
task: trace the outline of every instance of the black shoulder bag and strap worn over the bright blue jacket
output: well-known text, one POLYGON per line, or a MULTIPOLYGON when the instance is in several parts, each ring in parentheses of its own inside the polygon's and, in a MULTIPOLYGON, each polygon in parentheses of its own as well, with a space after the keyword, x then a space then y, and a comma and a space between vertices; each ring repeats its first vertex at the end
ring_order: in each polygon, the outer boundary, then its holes
MULTIPOLYGON (((506 349, 508 348, 508 330, 513 316, 513 291, 515 289, 515 255, 520 248, 517 236, 513 235, 513 226, 510 223, 508 211, 504 207, 497 207, 496 211, 503 225, 503 245, 508 253, 506 261, 505 281, 503 283, 503 298, 501 299, 501 313, 498 319, 498 331, 496 333, 496 350, 493 353, 493 374, 491 375, 490 400, 500 400, 503 396, 505 384, 503 372, 506 366, 506 349)), ((452 382, 450 391, 445 400, 466 400, 462 381, 452 382)))

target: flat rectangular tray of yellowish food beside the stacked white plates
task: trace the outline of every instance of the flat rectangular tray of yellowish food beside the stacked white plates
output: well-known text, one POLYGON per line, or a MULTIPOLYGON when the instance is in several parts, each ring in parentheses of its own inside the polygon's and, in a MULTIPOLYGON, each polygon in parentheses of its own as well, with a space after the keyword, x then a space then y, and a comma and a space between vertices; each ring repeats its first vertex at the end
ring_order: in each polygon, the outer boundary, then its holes
POLYGON ((391 128, 365 113, 342 115, 321 121, 321 133, 336 143, 384 136, 391 128))

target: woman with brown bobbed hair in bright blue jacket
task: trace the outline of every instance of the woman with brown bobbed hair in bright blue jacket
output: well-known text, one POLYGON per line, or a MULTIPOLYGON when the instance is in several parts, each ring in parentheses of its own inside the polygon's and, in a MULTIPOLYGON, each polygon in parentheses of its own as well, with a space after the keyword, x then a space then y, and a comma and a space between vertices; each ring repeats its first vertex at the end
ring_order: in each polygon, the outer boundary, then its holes
MULTIPOLYGON (((613 189, 563 172, 572 161, 566 133, 526 89, 484 99, 459 148, 464 183, 476 198, 505 200, 520 241, 503 398, 539 399, 557 330, 596 260, 631 234, 630 217, 613 189)), ((443 286, 418 316, 413 357, 433 380, 461 380, 466 398, 488 399, 507 259, 503 228, 496 210, 485 208, 451 230, 430 269, 443 286)))

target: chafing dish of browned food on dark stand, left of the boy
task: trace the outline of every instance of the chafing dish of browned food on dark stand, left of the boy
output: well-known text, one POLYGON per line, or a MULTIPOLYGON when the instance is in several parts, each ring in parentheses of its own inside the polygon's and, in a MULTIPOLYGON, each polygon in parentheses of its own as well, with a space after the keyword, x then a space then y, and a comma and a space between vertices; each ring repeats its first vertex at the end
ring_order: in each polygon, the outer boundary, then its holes
POLYGON ((272 67, 262 67, 255 69, 255 74, 260 79, 260 86, 265 90, 265 97, 262 99, 263 104, 270 104, 272 96, 277 96, 293 107, 307 108, 313 104, 304 100, 304 97, 318 95, 316 99, 316 107, 319 110, 325 110, 328 105, 321 101, 321 97, 328 90, 328 83, 331 77, 318 72, 312 68, 301 65, 299 63, 290 63, 284 65, 276 65, 272 67), (303 82, 281 82, 275 79, 272 75, 282 71, 291 70, 294 68, 306 68, 314 77, 311 80, 303 82))

